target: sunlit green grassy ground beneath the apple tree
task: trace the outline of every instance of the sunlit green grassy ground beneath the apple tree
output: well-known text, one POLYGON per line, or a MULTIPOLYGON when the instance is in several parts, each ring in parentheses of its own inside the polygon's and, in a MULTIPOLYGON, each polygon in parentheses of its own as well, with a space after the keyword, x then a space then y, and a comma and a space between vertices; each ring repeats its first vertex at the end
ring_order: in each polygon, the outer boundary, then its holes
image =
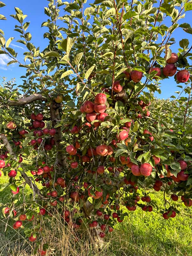
MULTIPOLYGON (((0 184, 5 181, 6 178, 2 176, 0 184)), ((8 202, 9 189, 0 192, 0 203, 8 202)), ((31 193, 28 185, 26 189, 27 194, 31 193)), ((27 194, 26 196, 28 196, 27 194)), ((152 191, 150 196, 160 208, 163 208, 164 201, 161 191, 155 193, 152 191)), ((178 202, 174 202, 174 205, 180 210, 180 214, 169 220, 164 220, 155 209, 153 212, 144 212, 138 207, 135 212, 128 212, 129 216, 122 223, 118 223, 114 232, 105 238, 105 244, 100 253, 105 256, 191 256, 192 209, 185 207, 180 199, 178 202)), ((126 208, 124 210, 127 211, 126 208)), ((0 256, 32 255, 29 253, 31 244, 22 237, 22 230, 16 233, 11 227, 7 227, 4 233, 3 221, 0 219, 0 256), (24 249, 23 252, 22 248, 24 249)), ((95 248, 90 250, 89 245, 86 246, 83 241, 74 245, 71 232, 68 233, 69 236, 67 237, 64 235, 63 228, 64 226, 60 225, 60 220, 56 214, 50 223, 50 230, 45 230, 45 239, 48 239, 52 248, 51 254, 48 255, 100 255, 95 251, 95 248), (80 249, 74 250, 74 246, 80 247, 80 249), (59 253, 57 253, 57 248, 60 248, 58 249, 59 253), (64 251, 63 248, 65 248, 64 251)))

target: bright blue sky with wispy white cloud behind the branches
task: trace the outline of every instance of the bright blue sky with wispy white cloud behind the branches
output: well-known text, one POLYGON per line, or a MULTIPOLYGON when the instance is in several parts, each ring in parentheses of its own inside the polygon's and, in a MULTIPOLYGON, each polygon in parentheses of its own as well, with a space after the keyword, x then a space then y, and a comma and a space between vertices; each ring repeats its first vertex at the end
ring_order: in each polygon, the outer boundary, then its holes
MULTIPOLYGON (((40 46, 40 49, 43 50, 47 45, 47 39, 43 38, 46 28, 41 28, 41 24, 43 21, 47 20, 47 16, 44 14, 44 7, 47 6, 49 2, 47 0, 4 0, 3 2, 6 4, 6 6, 0 8, 0 13, 4 14, 7 20, 0 20, 0 28, 3 29, 6 40, 11 36, 15 37, 10 47, 14 48, 15 51, 18 52, 18 60, 23 60, 22 55, 25 49, 20 48, 22 47, 22 44, 16 42, 16 40, 20 39, 19 33, 14 31, 16 20, 9 16, 10 14, 15 14, 14 7, 19 7, 24 14, 28 15, 26 21, 30 21, 28 31, 32 34, 31 42, 34 43, 36 47, 40 46)), ((88 1, 86 5, 88 5, 89 2, 91 1, 88 1)), ((192 26, 191 20, 191 11, 188 11, 186 12, 185 19, 182 19, 180 23, 187 22, 192 26)), ((166 25, 169 26, 169 23, 166 25)), ((172 52, 178 52, 178 48, 180 48, 179 41, 182 38, 187 38, 189 40, 189 46, 192 44, 192 35, 184 32, 182 28, 178 28, 172 37, 174 37, 176 40, 176 43, 171 46, 172 52)), ((17 64, 6 67, 6 63, 8 61, 9 59, 7 56, 0 55, 0 77, 5 76, 8 79, 16 78, 16 83, 21 84, 22 81, 20 76, 25 75, 25 69, 19 68, 17 64)), ((159 95, 157 93, 156 96, 164 99, 169 98, 174 94, 175 91, 179 91, 179 88, 176 86, 177 84, 173 78, 165 79, 163 80, 161 86, 162 94, 159 95)))

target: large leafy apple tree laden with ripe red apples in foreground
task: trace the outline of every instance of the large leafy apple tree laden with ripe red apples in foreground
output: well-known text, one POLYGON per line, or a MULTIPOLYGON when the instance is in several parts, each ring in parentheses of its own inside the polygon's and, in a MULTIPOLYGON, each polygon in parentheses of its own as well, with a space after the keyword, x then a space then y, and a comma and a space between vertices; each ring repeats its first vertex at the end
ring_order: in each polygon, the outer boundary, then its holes
POLYGON ((172 34, 192 34, 184 22, 192 3, 48 2, 43 51, 19 8, 11 16, 16 42, 26 49, 22 62, 10 47, 15 39, 0 29, 0 54, 26 73, 23 84, 4 80, 0 87, 0 173, 9 177, 0 191, 10 189, 2 218, 33 242, 41 237, 40 219, 57 208, 77 233, 83 220, 103 238, 128 211, 158 207, 145 188, 170 194, 159 214, 175 217, 172 201, 181 196, 192 206, 192 47, 172 34), (154 98, 171 76, 179 97, 154 98), (26 185, 32 193, 23 208, 26 185))

